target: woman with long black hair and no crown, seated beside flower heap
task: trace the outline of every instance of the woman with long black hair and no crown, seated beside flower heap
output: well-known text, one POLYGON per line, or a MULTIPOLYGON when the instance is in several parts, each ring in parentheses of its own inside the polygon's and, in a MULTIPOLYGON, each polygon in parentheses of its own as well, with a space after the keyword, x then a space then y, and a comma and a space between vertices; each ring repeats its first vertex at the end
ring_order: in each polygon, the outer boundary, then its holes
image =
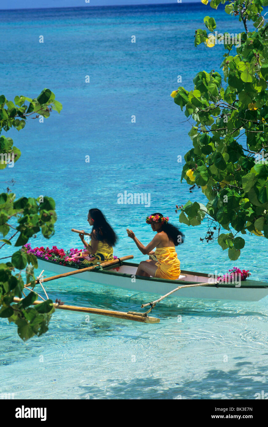
MULTIPOLYGON (((99 261, 104 262, 113 260, 113 246, 117 243, 118 239, 102 211, 97 208, 90 209, 87 215, 87 221, 89 222, 89 225, 92 225, 92 230, 89 234, 91 236, 91 240, 87 243, 84 240, 85 234, 79 234, 86 250, 84 252, 79 252, 77 256, 82 258, 85 265, 94 265, 99 261)), ((70 258, 69 260, 73 260, 73 258, 70 258)))

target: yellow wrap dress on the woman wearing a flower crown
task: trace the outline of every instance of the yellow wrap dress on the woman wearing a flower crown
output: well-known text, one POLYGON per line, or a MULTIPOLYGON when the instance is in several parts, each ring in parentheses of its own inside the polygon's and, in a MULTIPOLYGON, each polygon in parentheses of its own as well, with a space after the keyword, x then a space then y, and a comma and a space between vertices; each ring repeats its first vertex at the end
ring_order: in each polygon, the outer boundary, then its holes
POLYGON ((154 277, 177 280, 181 274, 181 263, 175 248, 173 246, 156 248, 154 254, 157 257, 155 265, 158 267, 154 277))

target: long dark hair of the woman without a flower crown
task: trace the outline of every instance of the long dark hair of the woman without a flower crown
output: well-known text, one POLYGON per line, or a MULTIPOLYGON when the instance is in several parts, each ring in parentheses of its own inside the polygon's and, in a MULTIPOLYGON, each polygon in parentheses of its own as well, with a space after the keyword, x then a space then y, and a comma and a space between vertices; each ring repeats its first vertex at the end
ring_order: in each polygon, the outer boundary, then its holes
POLYGON ((96 231, 96 240, 108 243, 109 246, 114 246, 117 243, 118 237, 111 225, 107 222, 102 211, 97 208, 89 210, 91 218, 94 220, 92 231, 96 231))

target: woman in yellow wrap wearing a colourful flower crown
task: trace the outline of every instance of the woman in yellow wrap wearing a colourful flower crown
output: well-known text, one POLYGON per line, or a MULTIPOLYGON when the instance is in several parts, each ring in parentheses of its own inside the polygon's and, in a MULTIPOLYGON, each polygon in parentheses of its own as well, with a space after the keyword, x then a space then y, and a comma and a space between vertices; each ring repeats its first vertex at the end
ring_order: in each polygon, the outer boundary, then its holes
POLYGON ((157 261, 142 261, 137 268, 136 275, 177 280, 181 269, 175 246, 184 242, 184 234, 169 223, 168 216, 164 217, 159 212, 147 216, 146 222, 151 224, 153 231, 156 231, 156 235, 147 246, 144 246, 133 231, 127 228, 128 237, 134 240, 140 252, 144 255, 155 255, 157 261), (154 248, 156 248, 155 252, 152 251, 154 248))

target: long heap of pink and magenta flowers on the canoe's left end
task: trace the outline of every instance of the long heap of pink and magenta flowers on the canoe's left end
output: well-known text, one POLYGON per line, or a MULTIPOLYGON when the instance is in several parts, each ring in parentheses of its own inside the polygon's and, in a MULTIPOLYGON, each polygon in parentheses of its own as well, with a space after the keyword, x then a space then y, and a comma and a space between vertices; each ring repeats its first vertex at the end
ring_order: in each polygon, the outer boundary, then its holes
MULTIPOLYGON (((67 258, 72 258, 75 254, 78 252, 81 252, 81 249, 69 249, 69 251, 64 251, 64 249, 58 249, 57 246, 52 246, 52 249, 50 249, 48 246, 47 248, 44 248, 44 246, 41 246, 40 248, 31 247, 30 243, 27 243, 22 247, 22 250, 27 252, 27 254, 34 254, 39 259, 44 259, 46 261, 52 261, 55 263, 62 264, 63 266, 76 266, 78 268, 84 268, 84 264, 81 260, 74 258, 73 261, 68 261, 67 258), (78 265, 81 263, 81 266, 78 265)), ((86 248, 84 247, 84 251, 86 248)), ((114 256, 114 260, 116 260, 117 257, 114 256)))

